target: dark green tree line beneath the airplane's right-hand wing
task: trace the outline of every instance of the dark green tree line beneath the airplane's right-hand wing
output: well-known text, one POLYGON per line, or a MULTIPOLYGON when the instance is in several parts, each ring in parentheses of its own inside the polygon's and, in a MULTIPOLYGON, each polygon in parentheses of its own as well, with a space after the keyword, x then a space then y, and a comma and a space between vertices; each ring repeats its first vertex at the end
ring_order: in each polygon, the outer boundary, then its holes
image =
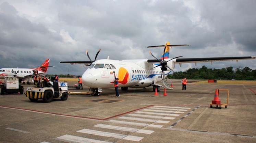
POLYGON ((170 79, 226 79, 226 80, 256 80, 256 69, 251 69, 249 67, 235 68, 232 66, 215 69, 207 68, 202 66, 201 68, 190 68, 184 72, 174 72, 168 75, 170 79))

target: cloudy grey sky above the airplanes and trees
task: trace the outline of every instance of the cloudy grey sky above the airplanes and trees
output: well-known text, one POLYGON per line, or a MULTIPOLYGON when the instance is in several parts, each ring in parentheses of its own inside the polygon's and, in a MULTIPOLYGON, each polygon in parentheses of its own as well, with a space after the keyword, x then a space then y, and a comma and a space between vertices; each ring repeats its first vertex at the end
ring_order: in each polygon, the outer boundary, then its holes
MULTIPOLYGON (((0 0, 0 68, 28 68, 50 58, 49 74, 81 75, 85 67, 60 61, 152 59, 147 46, 175 47, 170 57, 256 55, 255 0, 0 0), (93 58, 92 58, 93 59, 93 58)), ((150 49, 160 57, 162 50, 150 49)), ((248 66, 256 60, 176 65, 248 66)))

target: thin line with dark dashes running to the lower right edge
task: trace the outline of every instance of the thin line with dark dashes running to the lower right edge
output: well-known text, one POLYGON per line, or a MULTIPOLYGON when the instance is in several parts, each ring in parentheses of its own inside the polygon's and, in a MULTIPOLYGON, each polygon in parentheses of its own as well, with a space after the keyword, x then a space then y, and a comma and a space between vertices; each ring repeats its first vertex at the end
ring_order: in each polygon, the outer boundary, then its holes
POLYGON ((256 136, 245 135, 245 134, 234 134, 234 133, 212 132, 212 131, 201 131, 201 130, 190 130, 190 129, 179 129, 179 128, 164 128, 164 129, 175 130, 175 131, 206 133, 206 134, 217 134, 217 135, 233 136, 233 137, 256 138, 256 136))

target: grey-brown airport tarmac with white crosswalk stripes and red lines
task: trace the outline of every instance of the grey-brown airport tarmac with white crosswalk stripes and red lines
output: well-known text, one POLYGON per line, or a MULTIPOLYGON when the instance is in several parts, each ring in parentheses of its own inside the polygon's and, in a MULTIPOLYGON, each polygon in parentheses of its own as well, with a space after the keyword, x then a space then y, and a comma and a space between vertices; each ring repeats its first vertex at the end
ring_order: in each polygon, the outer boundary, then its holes
MULTIPOLYGON (((0 95, 0 142, 256 142, 256 85, 173 86, 167 96, 163 89, 154 95, 152 87, 119 89, 119 97, 104 89, 98 97, 70 95, 50 103, 0 95), (227 108, 210 108, 215 89, 230 91, 227 108)), ((225 103, 227 93, 219 97, 225 103)))

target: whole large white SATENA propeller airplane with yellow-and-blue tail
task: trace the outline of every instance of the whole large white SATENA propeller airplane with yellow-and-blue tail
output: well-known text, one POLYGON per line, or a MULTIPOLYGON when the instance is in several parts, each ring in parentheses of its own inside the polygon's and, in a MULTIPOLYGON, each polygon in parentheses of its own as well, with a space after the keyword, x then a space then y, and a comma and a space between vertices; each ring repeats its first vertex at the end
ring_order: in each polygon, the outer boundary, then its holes
MULTIPOLYGON (((168 75, 175 64, 180 66, 183 63, 198 63, 198 62, 215 62, 215 61, 238 61, 255 59, 254 56, 249 57, 215 57, 215 58, 169 58, 170 47, 176 46, 190 46, 190 45, 171 45, 166 42, 165 45, 148 46, 147 48, 164 47, 163 54, 160 59, 156 58, 150 51, 149 53, 155 59, 137 59, 137 60, 110 60, 107 59, 96 60, 99 51, 96 53, 94 61, 87 57, 90 61, 61 61, 60 63, 70 64, 84 64, 89 66, 82 75, 83 84, 90 87, 94 96, 99 96, 102 89, 113 88, 114 74, 119 78, 119 87, 121 90, 128 90, 128 88, 146 88, 153 86, 153 91, 157 89, 160 91, 160 86, 157 84, 163 81, 165 76, 168 75)), ((166 86, 164 84, 164 86, 166 86)), ((166 86, 166 88, 169 88, 166 86)))

